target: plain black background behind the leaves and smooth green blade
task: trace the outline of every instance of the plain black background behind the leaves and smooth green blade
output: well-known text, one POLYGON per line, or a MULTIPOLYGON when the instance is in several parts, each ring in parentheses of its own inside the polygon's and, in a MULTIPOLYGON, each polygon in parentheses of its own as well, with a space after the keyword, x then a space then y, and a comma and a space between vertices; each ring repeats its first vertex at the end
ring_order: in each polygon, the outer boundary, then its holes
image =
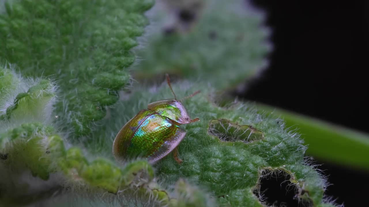
MULTIPOLYGON (((266 11, 274 50, 262 78, 238 95, 369 133, 369 1, 252 3, 266 11)), ((317 162, 338 204, 366 206, 369 172, 317 162)))

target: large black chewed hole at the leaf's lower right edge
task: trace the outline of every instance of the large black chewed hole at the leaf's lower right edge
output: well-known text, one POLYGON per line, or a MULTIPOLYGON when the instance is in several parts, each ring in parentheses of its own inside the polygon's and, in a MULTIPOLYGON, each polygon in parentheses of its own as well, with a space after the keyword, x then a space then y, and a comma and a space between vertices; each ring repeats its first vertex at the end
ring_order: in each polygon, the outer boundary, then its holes
POLYGON ((276 207, 310 207, 310 200, 299 200, 299 193, 291 181, 291 175, 282 170, 264 170, 254 194, 266 206, 276 207))

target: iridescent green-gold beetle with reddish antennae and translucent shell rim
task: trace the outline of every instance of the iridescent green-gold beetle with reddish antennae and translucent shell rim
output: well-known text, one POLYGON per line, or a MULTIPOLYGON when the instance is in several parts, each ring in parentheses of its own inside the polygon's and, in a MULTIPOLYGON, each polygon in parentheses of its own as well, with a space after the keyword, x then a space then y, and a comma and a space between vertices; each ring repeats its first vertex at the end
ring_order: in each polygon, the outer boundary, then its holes
POLYGON ((173 151, 175 161, 182 163, 178 157, 177 146, 183 140, 186 131, 179 125, 197 122, 200 119, 190 119, 181 101, 193 97, 200 91, 178 101, 168 74, 166 81, 174 99, 149 103, 147 109, 139 111, 122 127, 113 142, 113 155, 118 161, 145 157, 149 163, 154 163, 173 151))

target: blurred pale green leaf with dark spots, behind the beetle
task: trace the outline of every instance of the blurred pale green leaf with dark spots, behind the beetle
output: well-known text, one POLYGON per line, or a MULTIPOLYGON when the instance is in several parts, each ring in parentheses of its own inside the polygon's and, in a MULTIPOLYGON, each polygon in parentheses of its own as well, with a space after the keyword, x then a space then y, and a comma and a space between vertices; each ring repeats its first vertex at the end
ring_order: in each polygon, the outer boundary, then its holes
POLYGON ((161 83, 163 74, 169 73, 171 77, 201 80, 224 90, 236 87, 264 68, 265 56, 271 49, 269 31, 262 26, 263 14, 243 0, 196 1, 202 2, 204 8, 192 10, 199 18, 193 20, 187 32, 179 28, 189 22, 181 21, 176 11, 187 11, 193 1, 165 2, 175 6, 169 6, 168 11, 158 4, 152 10, 153 21, 165 25, 172 20, 176 23, 170 28, 176 32, 168 34, 156 27, 148 45, 138 52, 142 61, 133 71, 135 79, 161 83))

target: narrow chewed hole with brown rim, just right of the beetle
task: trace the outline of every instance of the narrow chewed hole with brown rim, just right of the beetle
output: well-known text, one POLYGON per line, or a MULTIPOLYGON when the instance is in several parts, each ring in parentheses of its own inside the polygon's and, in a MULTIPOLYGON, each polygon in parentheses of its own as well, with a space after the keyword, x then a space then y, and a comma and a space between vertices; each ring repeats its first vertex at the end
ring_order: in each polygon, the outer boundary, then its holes
POLYGON ((227 119, 215 119, 209 123, 208 133, 222 141, 243 141, 245 143, 264 138, 262 131, 249 125, 238 125, 227 119))

